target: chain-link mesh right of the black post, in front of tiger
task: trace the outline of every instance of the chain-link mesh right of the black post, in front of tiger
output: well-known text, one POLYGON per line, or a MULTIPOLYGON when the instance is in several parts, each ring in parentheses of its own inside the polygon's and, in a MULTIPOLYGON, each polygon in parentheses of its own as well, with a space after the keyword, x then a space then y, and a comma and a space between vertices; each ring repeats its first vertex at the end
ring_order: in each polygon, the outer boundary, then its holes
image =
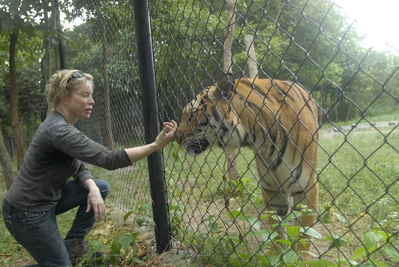
MULTIPOLYGON (((365 48, 356 22, 348 23, 340 7, 330 1, 160 0, 150 1, 150 8, 160 118, 179 121, 182 131, 180 142, 164 150, 176 247, 188 249, 188 254, 209 266, 298 263, 298 233, 304 231, 302 222, 295 228, 300 212, 294 211, 284 220, 288 241, 276 236, 265 218, 273 215, 265 208, 262 194, 267 187, 262 186, 262 177, 270 175, 276 181, 271 169, 277 162, 289 169, 286 178, 293 178, 302 161, 291 168, 284 161, 286 155, 279 155, 269 165, 262 159, 267 165, 262 175, 255 161, 262 146, 285 148, 279 141, 281 136, 273 137, 273 126, 283 126, 277 119, 280 116, 294 120, 286 128, 286 139, 300 151, 297 159, 306 161, 301 144, 294 138, 316 137, 307 127, 309 118, 304 112, 306 106, 316 105, 320 140, 314 138, 313 142, 318 147, 314 171, 319 197, 317 211, 308 206, 315 210, 317 219, 307 225, 315 231, 310 234, 311 249, 304 255, 348 266, 378 266, 377 259, 387 266, 397 264, 398 242, 382 236, 397 237, 398 124, 373 122, 381 114, 387 114, 385 121, 398 119, 393 115, 399 99, 397 51, 391 47, 385 51, 365 48), (231 44, 226 42, 228 38, 231 44), (227 72, 233 73, 236 84, 214 101, 216 93, 211 89, 227 72), (276 83, 260 88, 257 79, 265 78, 276 83), (290 82, 282 88, 278 79, 290 82), (262 105, 254 106, 250 97, 246 98, 243 88, 248 86, 262 105), (305 96, 299 95, 298 86, 305 88, 305 96), (229 94, 241 98, 241 106, 229 94), (302 106, 294 106, 297 102, 302 106), (197 109, 205 110, 205 106, 210 120, 197 109), (289 112, 284 106, 290 106, 289 112), (251 110, 253 116, 245 110, 251 110), (264 112, 273 112, 265 115, 271 121, 262 118, 264 112), (225 119, 225 129, 218 117, 225 119), (258 135, 249 138, 253 132, 247 128, 240 139, 239 129, 251 124, 251 129, 265 126, 261 145, 254 141, 258 135), (251 139, 249 144, 245 138, 251 139), (183 148, 202 150, 205 139, 211 140, 210 149, 195 156, 183 148), (235 144, 235 151, 227 149, 228 143, 235 144), (374 240, 371 245, 369 238, 378 235, 378 242, 374 240), (272 242, 273 238, 277 239, 272 242), (363 245, 366 252, 360 249, 363 245)), ((312 138, 308 140, 312 143, 312 138)), ((286 188, 284 182, 278 185, 280 192, 282 188, 286 188)), ((273 204, 277 198, 275 195, 266 203, 273 204)), ((282 202, 289 202, 290 196, 284 198, 282 202)), ((281 215, 277 206, 274 209, 281 215)))

